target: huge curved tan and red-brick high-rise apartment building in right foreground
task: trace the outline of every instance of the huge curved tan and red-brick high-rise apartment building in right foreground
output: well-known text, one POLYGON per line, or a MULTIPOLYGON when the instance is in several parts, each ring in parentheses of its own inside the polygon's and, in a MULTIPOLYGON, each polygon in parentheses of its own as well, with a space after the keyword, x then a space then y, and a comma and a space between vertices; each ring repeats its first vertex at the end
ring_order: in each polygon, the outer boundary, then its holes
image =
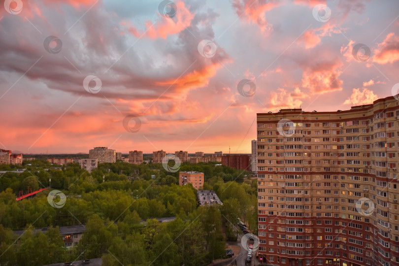
POLYGON ((259 259, 399 265, 399 100, 257 114, 259 259))

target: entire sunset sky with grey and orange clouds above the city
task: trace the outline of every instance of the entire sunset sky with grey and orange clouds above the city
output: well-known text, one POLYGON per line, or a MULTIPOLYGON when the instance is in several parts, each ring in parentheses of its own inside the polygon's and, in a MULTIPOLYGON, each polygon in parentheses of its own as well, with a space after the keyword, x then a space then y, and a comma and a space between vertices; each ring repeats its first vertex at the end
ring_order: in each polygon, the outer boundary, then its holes
POLYGON ((345 110, 392 96, 399 82, 398 0, 170 6, 5 0, 0 148, 250 153, 256 113, 345 110), (256 89, 240 94, 242 79, 256 89))

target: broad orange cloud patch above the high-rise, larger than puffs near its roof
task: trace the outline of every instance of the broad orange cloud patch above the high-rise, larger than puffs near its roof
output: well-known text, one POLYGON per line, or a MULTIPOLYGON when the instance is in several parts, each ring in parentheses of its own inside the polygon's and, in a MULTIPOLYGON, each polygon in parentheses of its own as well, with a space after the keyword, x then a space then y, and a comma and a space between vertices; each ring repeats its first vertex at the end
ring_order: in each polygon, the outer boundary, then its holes
POLYGON ((302 74, 302 87, 308 88, 313 94, 323 94, 342 90, 342 62, 322 62, 308 67, 302 74))

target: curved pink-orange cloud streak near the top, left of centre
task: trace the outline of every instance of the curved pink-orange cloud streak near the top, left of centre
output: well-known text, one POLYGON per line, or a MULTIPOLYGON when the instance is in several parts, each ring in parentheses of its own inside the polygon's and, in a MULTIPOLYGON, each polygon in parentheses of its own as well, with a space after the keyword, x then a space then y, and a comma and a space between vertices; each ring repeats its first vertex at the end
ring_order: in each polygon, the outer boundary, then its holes
MULTIPOLYGON (((191 14, 188 8, 182 1, 176 2, 177 12, 173 18, 164 18, 160 15, 159 20, 155 24, 152 21, 145 23, 145 31, 140 31, 134 26, 130 26, 128 32, 132 33, 135 37, 146 36, 150 39, 164 38, 167 35, 180 33, 186 27, 189 27, 191 21, 194 18, 194 14, 191 14)), ((123 24, 131 24, 130 22, 122 22, 123 24)))

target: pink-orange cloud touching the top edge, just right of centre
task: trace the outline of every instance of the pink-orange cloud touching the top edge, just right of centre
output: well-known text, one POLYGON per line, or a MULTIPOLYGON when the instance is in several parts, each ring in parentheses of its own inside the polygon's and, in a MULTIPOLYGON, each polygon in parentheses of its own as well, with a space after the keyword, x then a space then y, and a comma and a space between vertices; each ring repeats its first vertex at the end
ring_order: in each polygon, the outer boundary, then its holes
POLYGON ((272 31, 273 26, 266 20, 265 13, 280 4, 279 0, 233 0, 238 17, 248 23, 257 24, 262 32, 272 31))

